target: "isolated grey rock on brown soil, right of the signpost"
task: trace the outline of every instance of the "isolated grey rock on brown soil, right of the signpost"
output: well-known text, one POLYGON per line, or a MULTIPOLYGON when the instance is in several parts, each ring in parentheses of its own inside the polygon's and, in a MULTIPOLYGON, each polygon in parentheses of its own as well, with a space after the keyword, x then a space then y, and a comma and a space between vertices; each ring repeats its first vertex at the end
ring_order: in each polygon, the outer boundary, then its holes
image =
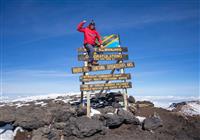
POLYGON ((155 130, 161 126, 163 126, 163 122, 159 116, 153 116, 153 117, 146 118, 143 122, 144 130, 155 130))

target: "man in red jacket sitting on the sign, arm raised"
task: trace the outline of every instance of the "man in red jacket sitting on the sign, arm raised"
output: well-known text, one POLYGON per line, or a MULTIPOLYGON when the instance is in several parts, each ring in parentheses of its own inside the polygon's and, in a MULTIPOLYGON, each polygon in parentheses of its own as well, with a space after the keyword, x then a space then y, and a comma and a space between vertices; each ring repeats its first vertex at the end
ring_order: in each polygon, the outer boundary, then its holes
POLYGON ((88 27, 83 28, 83 25, 86 23, 86 21, 82 21, 79 23, 77 30, 79 32, 84 33, 84 46, 87 50, 87 53, 89 55, 89 65, 98 65, 97 61, 94 61, 93 55, 94 55, 94 46, 96 45, 96 40, 100 43, 100 47, 103 48, 101 36, 95 29, 95 23, 92 20, 92 22, 88 25, 88 27))

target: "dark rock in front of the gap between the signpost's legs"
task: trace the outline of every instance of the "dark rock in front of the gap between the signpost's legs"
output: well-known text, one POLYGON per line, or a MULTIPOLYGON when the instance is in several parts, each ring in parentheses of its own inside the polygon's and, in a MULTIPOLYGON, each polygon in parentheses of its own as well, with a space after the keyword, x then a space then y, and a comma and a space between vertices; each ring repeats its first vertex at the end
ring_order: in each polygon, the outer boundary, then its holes
POLYGON ((117 114, 105 114, 103 115, 104 124, 109 128, 119 127, 123 122, 124 118, 117 114))

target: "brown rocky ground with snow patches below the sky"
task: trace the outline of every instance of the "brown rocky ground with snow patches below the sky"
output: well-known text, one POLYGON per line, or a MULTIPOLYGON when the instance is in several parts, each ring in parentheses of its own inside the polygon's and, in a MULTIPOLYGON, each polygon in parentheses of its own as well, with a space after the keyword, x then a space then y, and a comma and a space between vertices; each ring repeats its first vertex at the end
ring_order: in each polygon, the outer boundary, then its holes
POLYGON ((0 136, 12 131, 14 140, 200 139, 199 115, 157 108, 149 101, 135 102, 132 96, 128 111, 114 102, 92 109, 91 115, 86 117, 85 107, 72 105, 63 97, 0 104, 0 127, 6 126, 0 136))

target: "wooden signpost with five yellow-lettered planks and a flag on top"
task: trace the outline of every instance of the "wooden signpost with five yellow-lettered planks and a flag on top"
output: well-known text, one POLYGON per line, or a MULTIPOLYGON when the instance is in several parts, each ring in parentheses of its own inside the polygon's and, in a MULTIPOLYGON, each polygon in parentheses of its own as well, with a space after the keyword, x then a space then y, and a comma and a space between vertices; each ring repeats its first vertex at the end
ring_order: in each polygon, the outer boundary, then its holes
POLYGON ((131 79, 130 73, 125 73, 125 68, 134 67, 133 62, 124 62, 128 60, 127 47, 121 47, 120 43, 116 45, 116 42, 119 42, 118 35, 110 35, 103 38, 103 45, 108 46, 107 48, 95 48, 95 52, 100 52, 100 54, 94 54, 94 60, 98 60, 98 66, 88 67, 88 55, 84 47, 78 48, 78 60, 84 61, 83 67, 73 67, 72 73, 82 73, 80 76, 80 91, 81 91, 81 102, 83 101, 84 92, 87 93, 87 116, 90 117, 90 94, 91 93, 103 93, 113 89, 122 90, 124 97, 124 108, 127 109, 127 88, 132 88, 132 83, 127 80, 131 79), (112 44, 113 43, 113 44, 112 44), (114 45, 114 47, 113 47, 114 45), (109 47, 111 46, 111 47, 109 47), (109 54, 111 53, 111 54, 109 54), (103 61, 112 61, 111 64, 101 64, 103 61), (116 61, 113 63, 113 61, 116 61), (94 73, 96 71, 109 71, 110 73, 106 74, 89 74, 90 72, 94 73), (116 71, 118 70, 118 71, 116 71), (117 73, 115 73, 117 72, 117 73), (96 82, 99 83, 96 83, 96 82), (116 82, 119 81, 119 82, 116 82), (95 82, 95 83, 91 83, 95 82))

